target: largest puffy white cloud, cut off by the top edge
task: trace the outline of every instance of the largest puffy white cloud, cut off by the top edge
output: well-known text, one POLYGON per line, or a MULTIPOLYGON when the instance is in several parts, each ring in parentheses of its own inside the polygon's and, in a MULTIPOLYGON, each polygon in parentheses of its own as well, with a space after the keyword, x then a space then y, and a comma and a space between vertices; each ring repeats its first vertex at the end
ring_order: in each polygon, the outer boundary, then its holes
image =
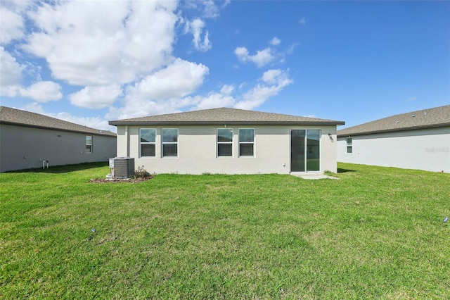
POLYGON ((70 85, 124 84, 172 59, 174 1, 41 3, 24 49, 70 85), (101 13, 99 13, 101 12, 101 13))

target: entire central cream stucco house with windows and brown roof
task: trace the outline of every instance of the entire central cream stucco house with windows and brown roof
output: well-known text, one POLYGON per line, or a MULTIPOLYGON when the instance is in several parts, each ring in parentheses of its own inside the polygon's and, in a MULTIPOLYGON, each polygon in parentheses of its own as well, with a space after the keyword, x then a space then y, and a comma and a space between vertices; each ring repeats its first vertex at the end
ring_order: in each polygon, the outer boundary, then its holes
POLYGON ((344 122, 235 108, 110 121, 117 156, 150 173, 336 172, 336 126, 344 122))

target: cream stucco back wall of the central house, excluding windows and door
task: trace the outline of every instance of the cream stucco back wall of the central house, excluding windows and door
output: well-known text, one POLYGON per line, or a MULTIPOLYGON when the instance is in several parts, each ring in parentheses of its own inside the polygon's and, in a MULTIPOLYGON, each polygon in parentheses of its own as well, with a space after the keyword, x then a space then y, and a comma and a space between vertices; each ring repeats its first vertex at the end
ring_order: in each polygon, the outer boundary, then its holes
POLYGON ((136 168, 150 173, 180 174, 257 174, 290 173, 290 130, 321 130, 321 173, 336 172, 336 126, 227 126, 233 128, 233 156, 217 157, 217 127, 214 125, 184 126, 117 126, 117 156, 135 158, 136 168), (139 157, 139 128, 155 128, 156 156, 139 157), (161 156, 161 128, 178 128, 178 157, 161 156), (255 156, 238 157, 238 129, 255 128, 255 156), (328 136, 331 134, 331 139, 328 136))

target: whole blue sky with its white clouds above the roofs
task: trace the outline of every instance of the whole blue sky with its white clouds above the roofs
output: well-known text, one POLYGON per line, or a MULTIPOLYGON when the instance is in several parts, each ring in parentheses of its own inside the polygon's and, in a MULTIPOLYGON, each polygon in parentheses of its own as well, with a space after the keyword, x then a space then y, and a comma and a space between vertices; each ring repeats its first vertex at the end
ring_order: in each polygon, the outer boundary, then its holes
POLYGON ((0 10, 1 105, 98 129, 221 106, 349 127, 450 104, 450 1, 1 1, 0 10))

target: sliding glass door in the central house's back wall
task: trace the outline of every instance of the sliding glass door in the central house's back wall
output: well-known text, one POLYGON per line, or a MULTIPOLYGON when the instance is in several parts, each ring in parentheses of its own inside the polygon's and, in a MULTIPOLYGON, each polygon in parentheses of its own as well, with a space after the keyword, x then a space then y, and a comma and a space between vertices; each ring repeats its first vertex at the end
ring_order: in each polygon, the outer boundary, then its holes
POLYGON ((290 172, 320 170, 320 130, 290 130, 290 172))

